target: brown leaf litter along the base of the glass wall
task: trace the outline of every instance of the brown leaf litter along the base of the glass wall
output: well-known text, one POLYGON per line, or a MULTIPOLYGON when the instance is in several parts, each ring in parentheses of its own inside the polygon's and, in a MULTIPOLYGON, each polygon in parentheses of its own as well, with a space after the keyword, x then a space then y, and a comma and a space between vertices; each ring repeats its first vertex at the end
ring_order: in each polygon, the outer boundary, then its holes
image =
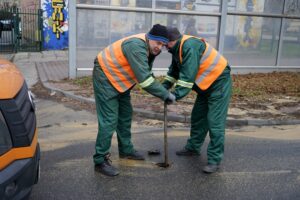
MULTIPOLYGON (((157 77, 159 81, 163 77, 157 77)), ((299 72, 273 72, 273 73, 253 73, 244 75, 232 75, 233 92, 232 103, 245 102, 252 106, 259 106, 257 103, 268 102, 289 102, 300 99, 300 73, 299 72)), ((94 91, 92 77, 80 77, 76 79, 64 79, 59 82, 51 82, 58 88, 64 87, 66 90, 72 88, 76 94, 93 98, 94 91)), ((140 95, 147 93, 136 86, 132 92, 140 95)), ((194 101, 196 93, 191 92, 182 102, 191 103, 194 101)))

